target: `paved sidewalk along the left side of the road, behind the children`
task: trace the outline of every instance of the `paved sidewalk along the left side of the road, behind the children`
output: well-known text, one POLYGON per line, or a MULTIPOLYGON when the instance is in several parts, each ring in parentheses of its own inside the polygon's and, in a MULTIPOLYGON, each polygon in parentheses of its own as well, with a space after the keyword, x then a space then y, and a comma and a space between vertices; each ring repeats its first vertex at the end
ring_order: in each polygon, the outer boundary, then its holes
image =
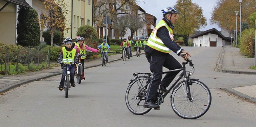
MULTIPOLYGON (((144 52, 142 51, 142 54, 144 52)), ((132 52, 132 56, 136 55, 136 51, 132 52)), ((121 60, 122 54, 117 54, 117 55, 111 55, 108 56, 108 62, 114 62, 121 60)), ((102 66, 101 65, 101 59, 95 59, 95 60, 86 60, 84 63, 84 68, 92 68, 95 66, 102 66)), ((108 66, 108 64, 107 64, 108 66)), ((5 76, 0 76, 0 93, 4 93, 12 88, 18 87, 20 85, 29 83, 29 82, 34 82, 38 81, 44 78, 49 78, 52 76, 60 75, 62 74, 62 69, 60 66, 52 67, 47 70, 40 70, 39 72, 28 72, 25 74, 17 74, 17 75, 5 75, 5 76)))

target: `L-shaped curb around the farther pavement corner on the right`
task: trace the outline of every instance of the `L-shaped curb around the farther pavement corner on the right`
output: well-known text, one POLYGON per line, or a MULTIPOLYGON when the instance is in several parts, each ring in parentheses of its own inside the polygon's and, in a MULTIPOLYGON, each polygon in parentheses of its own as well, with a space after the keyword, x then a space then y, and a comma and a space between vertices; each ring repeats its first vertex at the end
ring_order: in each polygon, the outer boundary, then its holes
POLYGON ((214 71, 216 72, 222 72, 222 73, 231 73, 231 74, 256 74, 256 72, 247 72, 247 71, 236 71, 236 70, 226 70, 226 69, 222 69, 222 63, 223 63, 223 57, 224 57, 224 53, 225 53, 225 48, 222 48, 222 51, 220 53, 219 59, 216 63, 216 68, 214 69, 214 71))

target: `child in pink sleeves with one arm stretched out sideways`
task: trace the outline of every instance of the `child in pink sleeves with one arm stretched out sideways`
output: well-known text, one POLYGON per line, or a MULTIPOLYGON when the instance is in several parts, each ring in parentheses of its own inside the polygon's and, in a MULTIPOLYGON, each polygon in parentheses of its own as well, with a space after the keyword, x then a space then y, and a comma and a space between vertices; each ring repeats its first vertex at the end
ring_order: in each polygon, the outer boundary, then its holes
POLYGON ((87 45, 84 44, 84 38, 83 37, 76 37, 76 45, 74 47, 74 49, 76 49, 76 53, 80 53, 81 55, 81 63, 82 63, 82 80, 85 80, 85 77, 84 77, 84 60, 86 58, 86 51, 90 51, 90 52, 94 52, 94 53, 97 53, 97 52, 100 52, 99 50, 97 49, 94 49, 94 48, 91 48, 91 47, 88 47, 87 45))

